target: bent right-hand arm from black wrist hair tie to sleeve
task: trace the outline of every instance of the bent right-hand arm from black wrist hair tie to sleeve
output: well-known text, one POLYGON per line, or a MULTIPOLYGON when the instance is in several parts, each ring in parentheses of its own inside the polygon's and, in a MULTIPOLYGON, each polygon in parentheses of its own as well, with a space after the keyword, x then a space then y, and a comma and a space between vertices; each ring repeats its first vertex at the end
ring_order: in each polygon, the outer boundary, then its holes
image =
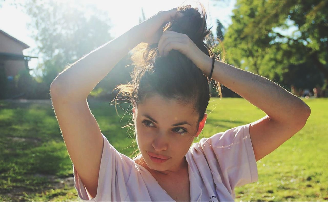
MULTIPOLYGON (((209 75, 212 58, 205 58, 199 66, 209 75)), ((296 134, 310 116, 311 110, 307 104, 278 84, 259 75, 215 61, 213 79, 267 114, 253 122, 250 127, 256 160, 268 155, 296 134)))

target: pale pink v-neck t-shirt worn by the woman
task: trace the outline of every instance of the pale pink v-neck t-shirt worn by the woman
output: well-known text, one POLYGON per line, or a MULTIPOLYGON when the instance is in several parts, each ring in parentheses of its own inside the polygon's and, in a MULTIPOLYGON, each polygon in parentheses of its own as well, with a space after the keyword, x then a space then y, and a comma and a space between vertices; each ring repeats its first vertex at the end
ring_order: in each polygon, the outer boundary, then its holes
MULTIPOLYGON (((256 182, 250 123, 202 138, 186 154, 191 201, 234 201, 235 187, 256 182)), ((174 201, 144 167, 104 138, 97 195, 90 200, 74 165, 75 189, 83 201, 174 201)))

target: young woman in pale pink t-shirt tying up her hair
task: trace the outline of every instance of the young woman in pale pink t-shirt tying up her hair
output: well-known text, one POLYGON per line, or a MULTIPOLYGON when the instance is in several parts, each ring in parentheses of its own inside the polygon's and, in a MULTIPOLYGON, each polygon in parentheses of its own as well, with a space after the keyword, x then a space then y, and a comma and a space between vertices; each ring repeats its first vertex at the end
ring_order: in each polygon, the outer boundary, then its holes
POLYGON ((233 201, 257 181, 256 161, 306 123, 310 108, 276 83, 214 60, 204 44, 206 13, 160 11, 93 50, 51 84, 51 98, 84 201, 233 201), (163 32, 163 27, 164 32, 163 32), (103 136, 88 94, 133 47, 149 44, 132 83, 118 88, 133 104, 140 155, 120 154, 103 136), (211 77, 267 116, 202 138, 211 77))

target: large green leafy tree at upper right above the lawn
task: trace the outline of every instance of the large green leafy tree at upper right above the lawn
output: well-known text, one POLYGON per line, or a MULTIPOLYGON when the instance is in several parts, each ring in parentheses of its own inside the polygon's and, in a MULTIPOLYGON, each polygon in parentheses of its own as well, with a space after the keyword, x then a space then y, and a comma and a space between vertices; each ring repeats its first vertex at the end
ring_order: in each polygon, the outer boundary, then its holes
POLYGON ((237 0, 224 44, 229 63, 283 82, 290 65, 316 68, 328 82, 326 0, 237 0))

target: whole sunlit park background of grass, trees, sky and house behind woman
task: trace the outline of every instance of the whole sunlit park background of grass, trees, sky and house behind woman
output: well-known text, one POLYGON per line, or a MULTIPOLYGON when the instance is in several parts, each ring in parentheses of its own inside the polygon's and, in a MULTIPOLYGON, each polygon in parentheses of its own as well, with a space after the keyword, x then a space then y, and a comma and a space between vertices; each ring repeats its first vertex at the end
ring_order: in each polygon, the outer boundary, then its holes
MULTIPOLYGON (((206 43, 221 59, 274 81, 312 110, 296 136, 257 162, 259 181, 238 188, 236 200, 328 200, 328 1, 199 2, 213 38, 206 43)), ((180 0, 0 0, 0 201, 80 200, 51 106, 51 82, 65 66, 158 11, 187 4, 198 7, 180 0)), ((131 81, 130 56, 88 97, 103 134, 127 156, 135 149, 133 129, 121 127, 131 120, 108 102, 117 84, 131 81)), ((204 137, 265 116, 221 87, 222 100, 212 91, 209 110, 216 118, 209 117, 204 137)))

